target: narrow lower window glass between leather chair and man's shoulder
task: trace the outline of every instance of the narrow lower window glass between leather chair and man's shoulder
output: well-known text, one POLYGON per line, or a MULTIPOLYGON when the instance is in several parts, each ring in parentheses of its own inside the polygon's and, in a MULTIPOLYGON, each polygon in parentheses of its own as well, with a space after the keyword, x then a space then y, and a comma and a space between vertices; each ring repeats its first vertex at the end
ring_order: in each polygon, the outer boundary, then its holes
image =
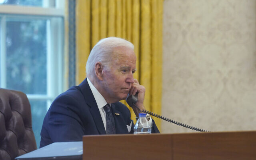
POLYGON ((42 129, 44 116, 47 112, 46 100, 30 100, 32 114, 32 129, 36 138, 37 148, 40 146, 40 132, 42 129))

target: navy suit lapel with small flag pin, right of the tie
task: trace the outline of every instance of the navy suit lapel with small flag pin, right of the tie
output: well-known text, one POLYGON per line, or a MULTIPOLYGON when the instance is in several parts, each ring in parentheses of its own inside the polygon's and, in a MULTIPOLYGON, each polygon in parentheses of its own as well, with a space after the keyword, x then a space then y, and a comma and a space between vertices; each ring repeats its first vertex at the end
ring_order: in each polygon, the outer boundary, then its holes
POLYGON ((117 106, 114 103, 111 104, 112 114, 114 116, 116 124, 116 134, 127 134, 128 129, 126 123, 124 122, 122 114, 118 110, 116 110, 116 107, 117 106))

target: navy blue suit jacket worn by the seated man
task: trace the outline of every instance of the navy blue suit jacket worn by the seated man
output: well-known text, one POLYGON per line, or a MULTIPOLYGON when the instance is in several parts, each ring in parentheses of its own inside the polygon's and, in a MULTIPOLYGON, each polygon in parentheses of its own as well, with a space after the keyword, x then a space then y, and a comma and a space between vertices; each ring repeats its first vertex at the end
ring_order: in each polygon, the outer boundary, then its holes
MULTIPOLYGON (((116 134, 128 134, 130 110, 121 102, 112 103, 116 134), (115 114, 118 113, 119 115, 115 114)), ((130 133, 133 133, 134 124, 130 133)), ((159 130, 153 120, 152 133, 159 130)), ((60 94, 50 106, 41 130, 40 148, 53 142, 82 141, 83 135, 106 134, 100 111, 87 78, 60 94)))

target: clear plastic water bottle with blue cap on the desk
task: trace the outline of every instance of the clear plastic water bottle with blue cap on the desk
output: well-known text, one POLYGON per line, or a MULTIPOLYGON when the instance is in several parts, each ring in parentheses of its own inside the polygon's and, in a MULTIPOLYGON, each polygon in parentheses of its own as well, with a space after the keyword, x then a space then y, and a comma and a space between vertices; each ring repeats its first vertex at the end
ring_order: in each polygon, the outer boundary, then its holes
POLYGON ((140 113, 134 126, 134 134, 151 134, 152 124, 146 118, 146 113, 140 113))

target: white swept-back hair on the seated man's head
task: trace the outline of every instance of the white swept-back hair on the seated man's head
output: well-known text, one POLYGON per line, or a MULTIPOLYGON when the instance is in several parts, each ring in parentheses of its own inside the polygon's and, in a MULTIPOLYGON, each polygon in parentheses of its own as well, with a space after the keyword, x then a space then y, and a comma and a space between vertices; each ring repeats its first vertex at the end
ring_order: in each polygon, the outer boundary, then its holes
POLYGON ((96 62, 101 62, 103 66, 107 68, 110 66, 112 61, 112 53, 114 48, 124 46, 134 50, 134 45, 122 38, 108 37, 100 40, 91 50, 86 63, 86 74, 87 76, 95 76, 94 67, 96 62))

